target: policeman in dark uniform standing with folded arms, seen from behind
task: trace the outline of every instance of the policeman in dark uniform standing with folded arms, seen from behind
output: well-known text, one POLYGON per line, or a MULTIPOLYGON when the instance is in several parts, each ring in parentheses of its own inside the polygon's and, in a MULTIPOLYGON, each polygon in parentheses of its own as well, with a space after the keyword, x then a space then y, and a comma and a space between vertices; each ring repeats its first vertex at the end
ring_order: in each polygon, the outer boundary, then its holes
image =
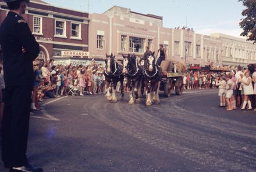
POLYGON ((40 52, 29 25, 21 16, 29 0, 4 0, 10 12, 0 27, 5 79, 2 160, 14 171, 41 172, 26 156, 29 133, 31 91, 34 82, 33 60, 40 52))

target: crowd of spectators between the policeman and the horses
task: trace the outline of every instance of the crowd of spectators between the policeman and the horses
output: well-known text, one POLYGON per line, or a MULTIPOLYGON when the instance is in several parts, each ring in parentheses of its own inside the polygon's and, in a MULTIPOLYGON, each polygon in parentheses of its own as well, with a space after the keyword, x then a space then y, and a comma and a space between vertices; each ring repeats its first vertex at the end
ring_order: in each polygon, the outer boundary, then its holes
POLYGON ((40 109, 38 101, 61 96, 86 96, 105 93, 104 67, 91 65, 54 65, 35 60, 31 109, 40 109))

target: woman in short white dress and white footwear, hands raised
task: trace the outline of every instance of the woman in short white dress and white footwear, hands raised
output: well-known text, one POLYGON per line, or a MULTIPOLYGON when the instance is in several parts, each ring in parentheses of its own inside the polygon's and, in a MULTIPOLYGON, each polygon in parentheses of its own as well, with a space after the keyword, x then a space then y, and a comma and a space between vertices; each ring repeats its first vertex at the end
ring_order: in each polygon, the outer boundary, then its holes
POLYGON ((241 83, 243 83, 243 90, 244 90, 244 103, 243 103, 243 107, 241 108, 241 110, 244 110, 246 108, 246 104, 248 103, 248 110, 251 110, 251 101, 250 101, 250 95, 254 94, 254 90, 253 90, 253 83, 251 77, 250 77, 250 72, 246 71, 245 75, 243 77, 243 79, 241 79, 241 83))

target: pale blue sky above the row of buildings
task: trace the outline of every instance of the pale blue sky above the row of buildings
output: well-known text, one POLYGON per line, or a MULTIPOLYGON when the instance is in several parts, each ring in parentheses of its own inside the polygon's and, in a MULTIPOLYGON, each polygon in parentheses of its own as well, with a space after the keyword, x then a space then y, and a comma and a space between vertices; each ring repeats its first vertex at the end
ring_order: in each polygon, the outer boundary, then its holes
POLYGON ((244 6, 237 0, 42 0, 54 6, 89 13, 103 13, 118 5, 133 12, 163 17, 163 27, 186 26, 198 34, 240 36, 244 6))

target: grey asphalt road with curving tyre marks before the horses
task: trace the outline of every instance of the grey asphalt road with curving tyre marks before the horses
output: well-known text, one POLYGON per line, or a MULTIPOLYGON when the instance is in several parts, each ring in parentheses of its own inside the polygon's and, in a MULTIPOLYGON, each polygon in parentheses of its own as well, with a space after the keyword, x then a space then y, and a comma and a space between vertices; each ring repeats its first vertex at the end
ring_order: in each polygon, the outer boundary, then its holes
POLYGON ((256 171, 256 112, 217 108, 217 95, 195 90, 151 107, 128 95, 47 100, 31 115, 27 155, 46 172, 256 171))

